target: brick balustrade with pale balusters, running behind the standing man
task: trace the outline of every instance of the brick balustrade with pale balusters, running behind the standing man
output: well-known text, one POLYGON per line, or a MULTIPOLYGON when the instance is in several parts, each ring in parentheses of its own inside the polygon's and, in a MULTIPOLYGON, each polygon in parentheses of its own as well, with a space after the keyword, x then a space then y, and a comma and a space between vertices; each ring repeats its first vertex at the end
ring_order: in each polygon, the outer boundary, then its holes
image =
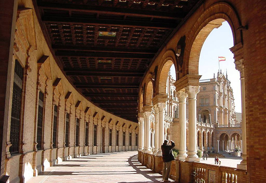
MULTIPOLYGON (((163 162, 161 156, 139 152, 139 161, 143 162, 156 173, 162 174, 163 162), (147 160, 143 160, 146 158, 147 160)), ((175 160, 171 162, 169 178, 176 182, 204 182, 204 183, 241 183, 247 182, 247 171, 201 162, 175 160)))

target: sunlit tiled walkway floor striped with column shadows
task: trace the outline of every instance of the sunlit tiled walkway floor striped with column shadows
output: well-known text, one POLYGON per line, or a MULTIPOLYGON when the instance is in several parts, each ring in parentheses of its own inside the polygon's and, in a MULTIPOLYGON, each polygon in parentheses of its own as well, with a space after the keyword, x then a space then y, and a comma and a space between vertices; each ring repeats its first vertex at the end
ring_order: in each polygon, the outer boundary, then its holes
POLYGON ((137 151, 82 156, 48 168, 27 183, 144 183, 162 176, 142 166, 137 151))

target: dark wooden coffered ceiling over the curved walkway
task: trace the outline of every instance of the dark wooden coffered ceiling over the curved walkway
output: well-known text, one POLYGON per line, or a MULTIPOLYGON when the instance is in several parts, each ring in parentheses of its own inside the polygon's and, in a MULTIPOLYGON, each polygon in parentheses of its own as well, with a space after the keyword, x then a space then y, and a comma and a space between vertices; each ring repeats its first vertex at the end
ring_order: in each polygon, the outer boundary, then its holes
POLYGON ((198 0, 36 1, 69 81, 95 105, 137 122, 143 74, 198 0))

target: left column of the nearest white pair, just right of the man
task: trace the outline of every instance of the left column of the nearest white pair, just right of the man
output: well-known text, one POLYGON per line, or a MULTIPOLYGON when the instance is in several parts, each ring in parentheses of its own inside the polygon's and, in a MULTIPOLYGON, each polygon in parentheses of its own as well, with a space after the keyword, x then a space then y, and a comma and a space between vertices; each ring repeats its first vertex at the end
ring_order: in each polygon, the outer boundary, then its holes
MULTIPOLYGON (((187 130, 186 130, 186 104, 187 93, 185 90, 178 91, 179 101, 179 154, 176 156, 177 160, 185 160, 187 157, 187 130)), ((199 115, 199 118, 200 115, 199 115)))

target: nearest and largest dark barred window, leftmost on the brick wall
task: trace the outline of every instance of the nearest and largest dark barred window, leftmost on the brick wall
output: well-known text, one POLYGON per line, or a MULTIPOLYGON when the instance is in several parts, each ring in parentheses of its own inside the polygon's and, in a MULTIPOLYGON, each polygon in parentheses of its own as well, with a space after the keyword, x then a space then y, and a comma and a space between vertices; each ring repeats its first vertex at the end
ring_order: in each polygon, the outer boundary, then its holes
POLYGON ((18 138, 20 125, 20 109, 21 109, 21 94, 22 94, 22 79, 23 67, 18 60, 15 60, 15 73, 13 83, 11 124, 10 124, 10 142, 12 146, 9 148, 10 153, 18 152, 18 138))

